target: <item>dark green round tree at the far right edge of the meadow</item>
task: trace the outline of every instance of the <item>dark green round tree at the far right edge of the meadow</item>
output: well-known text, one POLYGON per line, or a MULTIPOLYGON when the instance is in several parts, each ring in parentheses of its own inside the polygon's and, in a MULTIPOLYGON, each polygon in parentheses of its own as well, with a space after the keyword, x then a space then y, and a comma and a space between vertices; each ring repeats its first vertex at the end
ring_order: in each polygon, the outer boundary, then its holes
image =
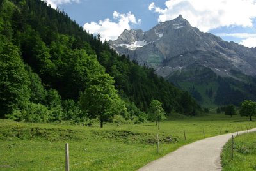
POLYGON ((244 100, 239 109, 241 116, 249 116, 252 121, 252 116, 256 116, 256 102, 251 100, 244 100))

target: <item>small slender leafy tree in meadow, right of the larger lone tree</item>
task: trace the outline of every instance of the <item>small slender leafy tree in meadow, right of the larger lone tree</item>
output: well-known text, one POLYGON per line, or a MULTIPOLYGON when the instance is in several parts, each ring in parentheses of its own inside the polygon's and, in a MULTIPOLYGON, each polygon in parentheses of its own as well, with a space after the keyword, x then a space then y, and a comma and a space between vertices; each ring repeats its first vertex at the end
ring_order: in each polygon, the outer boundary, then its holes
POLYGON ((150 103, 150 112, 156 119, 156 125, 158 120, 158 130, 160 129, 160 120, 164 117, 164 109, 162 108, 162 103, 158 100, 152 100, 150 103))

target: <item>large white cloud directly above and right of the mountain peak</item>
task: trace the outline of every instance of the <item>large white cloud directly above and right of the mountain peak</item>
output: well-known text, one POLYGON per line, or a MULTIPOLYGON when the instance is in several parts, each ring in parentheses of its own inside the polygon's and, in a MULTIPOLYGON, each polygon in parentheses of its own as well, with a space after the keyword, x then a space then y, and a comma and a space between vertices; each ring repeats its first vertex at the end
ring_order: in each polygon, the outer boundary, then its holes
POLYGON ((161 9, 151 3, 148 9, 159 13, 159 22, 172 20, 179 14, 191 26, 209 31, 221 26, 252 27, 256 17, 255 0, 168 0, 161 9))

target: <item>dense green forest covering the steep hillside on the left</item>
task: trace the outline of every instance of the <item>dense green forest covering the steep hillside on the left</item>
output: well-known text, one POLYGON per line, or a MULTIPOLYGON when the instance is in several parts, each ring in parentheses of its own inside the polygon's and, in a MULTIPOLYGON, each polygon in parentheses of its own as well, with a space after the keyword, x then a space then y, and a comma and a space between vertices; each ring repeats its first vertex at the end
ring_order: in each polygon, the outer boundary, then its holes
POLYGON ((88 93, 95 92, 108 101, 118 98, 106 107, 119 104, 116 114, 126 119, 147 117, 152 100, 161 101, 166 114, 201 111, 189 93, 118 56, 100 34, 86 33, 64 11, 40 0, 0 1, 0 118, 81 122, 101 117, 86 106, 86 98, 95 97, 88 93))

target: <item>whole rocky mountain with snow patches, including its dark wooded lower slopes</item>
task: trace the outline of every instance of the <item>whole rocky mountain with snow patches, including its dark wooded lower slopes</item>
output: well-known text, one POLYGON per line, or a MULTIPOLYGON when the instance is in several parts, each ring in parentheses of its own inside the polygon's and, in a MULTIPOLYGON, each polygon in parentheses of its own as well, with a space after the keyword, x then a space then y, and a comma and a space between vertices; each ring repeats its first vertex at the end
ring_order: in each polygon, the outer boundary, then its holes
POLYGON ((256 48, 203 33, 181 15, 146 32, 125 30, 109 45, 132 61, 154 68, 157 75, 186 89, 203 105, 238 105, 241 100, 256 99, 248 88, 255 87, 256 48))

